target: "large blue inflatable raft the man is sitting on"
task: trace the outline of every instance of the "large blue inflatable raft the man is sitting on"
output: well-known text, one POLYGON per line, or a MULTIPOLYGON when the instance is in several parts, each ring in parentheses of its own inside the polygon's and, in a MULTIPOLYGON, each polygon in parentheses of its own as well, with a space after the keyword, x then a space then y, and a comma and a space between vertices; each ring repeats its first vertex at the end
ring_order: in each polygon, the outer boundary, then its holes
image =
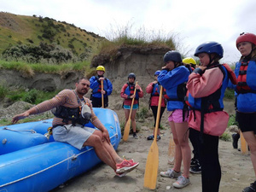
MULTIPOLYGON (((108 129, 113 148, 121 138, 119 119, 110 109, 94 108, 108 129)), ((44 134, 52 119, 0 127, 0 192, 45 192, 101 162, 95 150, 55 142, 44 134)), ((94 127, 92 124, 88 124, 94 127)))

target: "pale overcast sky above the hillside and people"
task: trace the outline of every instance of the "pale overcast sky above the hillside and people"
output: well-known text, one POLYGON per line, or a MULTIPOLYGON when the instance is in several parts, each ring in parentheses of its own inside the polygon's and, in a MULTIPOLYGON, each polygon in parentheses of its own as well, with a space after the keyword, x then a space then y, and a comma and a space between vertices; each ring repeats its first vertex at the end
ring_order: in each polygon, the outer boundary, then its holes
POLYGON ((107 38, 125 26, 174 34, 187 56, 199 44, 216 41, 224 47, 222 61, 230 64, 240 58, 239 34, 256 34, 256 0, 0 0, 0 5, 3 12, 66 21, 107 38))

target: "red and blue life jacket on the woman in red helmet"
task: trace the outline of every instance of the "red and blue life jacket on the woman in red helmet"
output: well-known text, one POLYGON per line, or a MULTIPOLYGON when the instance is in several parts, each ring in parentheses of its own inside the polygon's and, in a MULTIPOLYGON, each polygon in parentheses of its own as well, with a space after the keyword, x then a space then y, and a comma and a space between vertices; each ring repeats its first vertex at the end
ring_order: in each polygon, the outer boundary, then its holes
POLYGON ((245 94, 245 93, 256 93, 256 65, 255 65, 256 58, 250 61, 241 61, 238 63, 239 72, 237 77, 237 85, 236 85, 236 92, 238 94, 245 94), (252 63, 254 61, 254 63, 252 63), (249 67, 249 70, 247 70, 249 67))

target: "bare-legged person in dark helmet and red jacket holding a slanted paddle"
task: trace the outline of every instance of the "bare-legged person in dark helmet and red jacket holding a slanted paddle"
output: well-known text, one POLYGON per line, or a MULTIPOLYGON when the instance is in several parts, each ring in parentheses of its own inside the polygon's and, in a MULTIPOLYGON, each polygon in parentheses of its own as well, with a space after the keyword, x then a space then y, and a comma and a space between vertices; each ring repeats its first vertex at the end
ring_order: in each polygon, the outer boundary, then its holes
POLYGON ((143 90, 139 84, 135 84, 136 76, 134 73, 130 73, 128 75, 128 83, 124 84, 120 93, 120 96, 124 98, 123 108, 125 109, 125 125, 129 119, 130 110, 131 110, 131 102, 134 98, 132 111, 131 111, 131 128, 133 132, 133 138, 137 139, 136 132, 136 113, 139 108, 139 98, 143 97, 143 90), (134 91, 136 90, 136 95, 134 95, 134 91))

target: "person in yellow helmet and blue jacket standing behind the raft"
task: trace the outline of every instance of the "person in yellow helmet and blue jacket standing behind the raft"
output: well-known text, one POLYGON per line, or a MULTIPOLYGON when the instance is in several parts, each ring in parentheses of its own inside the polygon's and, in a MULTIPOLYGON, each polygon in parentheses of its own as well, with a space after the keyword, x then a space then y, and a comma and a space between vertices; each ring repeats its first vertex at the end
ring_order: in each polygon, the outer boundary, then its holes
POLYGON ((109 79, 104 77, 105 67, 96 67, 96 76, 90 78, 90 89, 93 108, 102 108, 102 96, 104 97, 104 108, 108 108, 108 96, 112 93, 113 86, 109 79), (103 90, 102 90, 103 82, 103 90))

